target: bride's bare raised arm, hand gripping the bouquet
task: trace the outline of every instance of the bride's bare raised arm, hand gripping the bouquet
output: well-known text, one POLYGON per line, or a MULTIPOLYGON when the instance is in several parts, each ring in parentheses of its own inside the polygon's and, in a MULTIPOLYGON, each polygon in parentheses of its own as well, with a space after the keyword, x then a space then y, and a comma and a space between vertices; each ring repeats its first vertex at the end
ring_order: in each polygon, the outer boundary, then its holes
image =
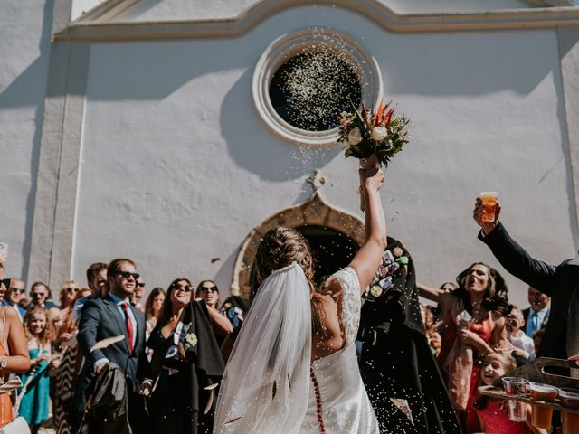
POLYGON ((360 294, 363 294, 380 265, 388 241, 379 193, 384 184, 384 173, 376 167, 360 169, 360 178, 364 183, 362 194, 365 194, 365 242, 350 262, 350 267, 356 270, 360 281, 360 294))

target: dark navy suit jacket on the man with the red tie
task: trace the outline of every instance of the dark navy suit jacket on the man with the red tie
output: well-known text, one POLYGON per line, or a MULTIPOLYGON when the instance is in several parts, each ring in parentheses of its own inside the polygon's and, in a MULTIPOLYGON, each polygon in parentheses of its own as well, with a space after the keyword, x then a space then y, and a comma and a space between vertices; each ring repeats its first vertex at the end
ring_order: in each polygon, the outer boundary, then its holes
POLYGON ((86 407, 84 393, 96 375, 94 371, 96 361, 107 358, 109 362, 117 364, 125 374, 129 394, 137 391, 138 380, 147 373, 147 357, 143 351, 145 348, 145 315, 135 307, 130 306, 130 309, 137 320, 137 335, 132 354, 128 351, 125 318, 110 297, 88 299, 82 307, 77 339, 85 357, 85 363, 82 366, 77 385, 77 410, 83 411, 86 407), (118 335, 125 335, 126 337, 116 344, 90 353, 90 348, 100 340, 118 335), (78 396, 79 394, 81 396, 78 396))

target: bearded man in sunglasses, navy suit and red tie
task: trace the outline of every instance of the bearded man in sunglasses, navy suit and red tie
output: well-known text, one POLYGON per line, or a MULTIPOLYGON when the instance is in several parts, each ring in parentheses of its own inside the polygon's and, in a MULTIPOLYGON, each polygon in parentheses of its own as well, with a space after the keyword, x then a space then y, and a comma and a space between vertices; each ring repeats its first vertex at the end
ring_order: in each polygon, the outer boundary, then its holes
MULTIPOLYGON (((125 374, 128 392, 128 420, 133 433, 138 432, 138 379, 147 369, 145 347, 145 316, 132 307, 129 297, 137 287, 138 273, 130 259, 114 259, 107 269, 109 293, 102 298, 88 299, 82 307, 78 341, 85 363, 77 385, 76 410, 84 412, 90 382, 107 363, 115 363, 125 374), (125 338, 101 350, 91 352, 97 342, 113 336, 125 338)), ((142 401, 140 401, 142 404, 142 401)), ((97 422, 98 423, 98 422, 97 422)), ((90 421, 90 431, 99 432, 95 420, 90 421)), ((76 427, 75 427, 76 428, 76 427)))

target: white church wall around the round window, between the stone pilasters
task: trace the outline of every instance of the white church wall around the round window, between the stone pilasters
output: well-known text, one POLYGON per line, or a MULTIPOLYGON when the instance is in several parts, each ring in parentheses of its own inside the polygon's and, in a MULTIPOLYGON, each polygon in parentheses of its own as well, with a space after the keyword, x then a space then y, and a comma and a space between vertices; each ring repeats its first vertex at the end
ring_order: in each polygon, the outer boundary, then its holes
MULTIPOLYGON (((480 259, 497 265, 471 219, 480 190, 501 193, 503 222, 532 254, 554 263, 574 255, 555 30, 389 33, 318 5, 231 39, 93 44, 74 277, 95 260, 128 256, 149 288, 177 275, 227 288, 242 240, 272 212, 304 201, 315 168, 327 178, 327 202, 362 218, 356 162, 340 146, 281 141, 253 107, 261 52, 311 26, 349 33, 372 52, 385 96, 413 118, 413 141, 389 167, 383 200, 419 280, 438 285, 480 259)), ((507 277, 525 306, 524 285, 507 277)))

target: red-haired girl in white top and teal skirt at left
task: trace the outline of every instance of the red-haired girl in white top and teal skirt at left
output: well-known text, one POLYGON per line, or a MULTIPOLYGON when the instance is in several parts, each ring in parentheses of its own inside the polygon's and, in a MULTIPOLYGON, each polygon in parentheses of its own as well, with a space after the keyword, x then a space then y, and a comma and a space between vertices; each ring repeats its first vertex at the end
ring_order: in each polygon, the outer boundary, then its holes
POLYGON ((31 368, 20 374, 23 387, 18 391, 16 407, 28 422, 32 433, 38 432, 40 423, 47 420, 49 405, 48 368, 57 368, 51 362, 51 342, 54 339, 50 312, 46 307, 33 306, 24 316, 24 335, 28 339, 31 368))

